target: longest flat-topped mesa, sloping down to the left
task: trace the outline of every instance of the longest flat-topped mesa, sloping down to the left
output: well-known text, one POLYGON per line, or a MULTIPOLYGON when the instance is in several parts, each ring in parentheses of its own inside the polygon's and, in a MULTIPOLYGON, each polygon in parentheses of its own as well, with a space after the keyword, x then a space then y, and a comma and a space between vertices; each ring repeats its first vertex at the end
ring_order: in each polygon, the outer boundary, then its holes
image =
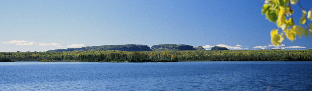
POLYGON ((101 45, 101 46, 86 46, 82 48, 67 48, 48 51, 89 51, 89 50, 121 50, 121 51, 152 51, 147 45, 101 45))

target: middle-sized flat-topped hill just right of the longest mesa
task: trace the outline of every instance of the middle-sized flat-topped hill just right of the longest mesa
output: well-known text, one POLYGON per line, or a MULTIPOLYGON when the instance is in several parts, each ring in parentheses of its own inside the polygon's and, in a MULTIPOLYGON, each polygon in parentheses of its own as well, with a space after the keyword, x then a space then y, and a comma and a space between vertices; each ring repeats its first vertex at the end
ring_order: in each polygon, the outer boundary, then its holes
POLYGON ((152 50, 196 50, 191 45, 176 45, 176 44, 162 44, 162 45, 153 45, 152 50))

